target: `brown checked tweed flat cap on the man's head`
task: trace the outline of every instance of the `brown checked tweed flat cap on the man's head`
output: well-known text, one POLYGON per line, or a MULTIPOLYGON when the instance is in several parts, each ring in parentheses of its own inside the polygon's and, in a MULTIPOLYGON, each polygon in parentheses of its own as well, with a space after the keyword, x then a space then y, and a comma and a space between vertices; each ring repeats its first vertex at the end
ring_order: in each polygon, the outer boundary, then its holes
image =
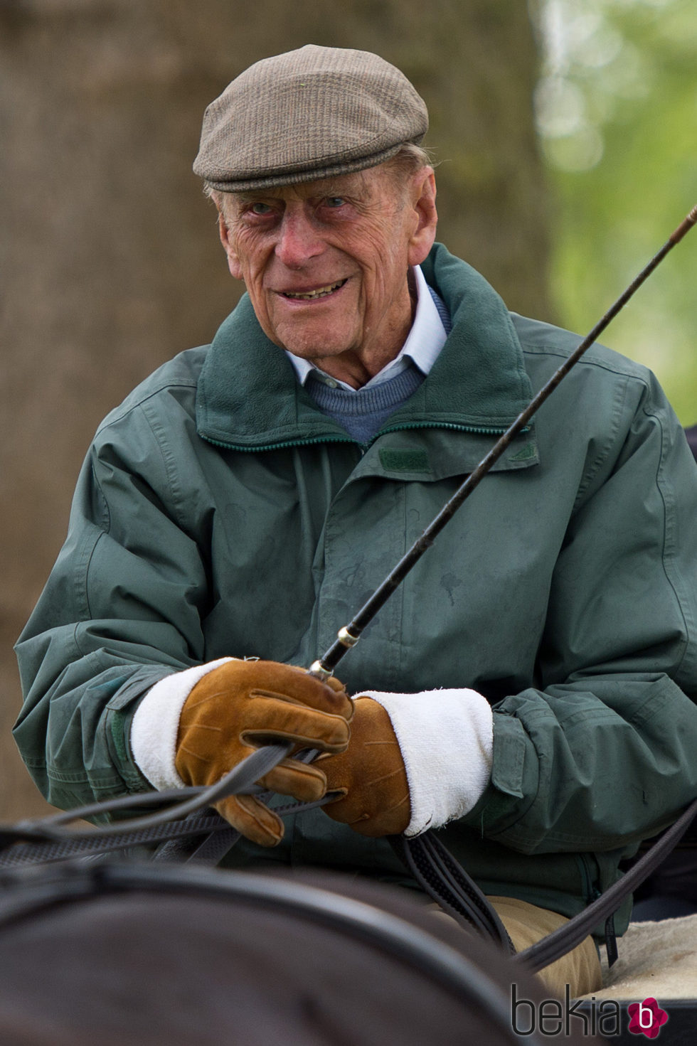
POLYGON ((308 44, 256 62, 208 106, 194 170, 224 192, 297 184, 376 166, 427 128, 395 66, 308 44))

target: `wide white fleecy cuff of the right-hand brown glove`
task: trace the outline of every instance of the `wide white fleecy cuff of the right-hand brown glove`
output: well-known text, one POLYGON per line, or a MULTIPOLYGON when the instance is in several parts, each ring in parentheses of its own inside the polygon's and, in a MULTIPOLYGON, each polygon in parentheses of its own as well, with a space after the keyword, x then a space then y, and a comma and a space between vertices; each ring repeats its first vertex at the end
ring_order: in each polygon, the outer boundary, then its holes
POLYGON ((402 750, 411 820, 406 836, 464 817, 491 778, 491 706, 476 690, 363 691, 385 709, 402 750))

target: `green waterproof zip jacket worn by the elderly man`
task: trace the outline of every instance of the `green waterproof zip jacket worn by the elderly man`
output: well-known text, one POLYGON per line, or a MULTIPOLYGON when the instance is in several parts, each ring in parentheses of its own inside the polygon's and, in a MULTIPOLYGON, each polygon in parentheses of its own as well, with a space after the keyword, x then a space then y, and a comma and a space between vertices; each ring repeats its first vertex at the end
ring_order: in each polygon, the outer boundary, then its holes
MULTIPOLYGON (((18 653, 16 738, 50 802, 148 788, 132 714, 224 655, 309 665, 578 339, 511 315, 437 246, 453 329, 367 447, 321 414, 244 298, 104 422, 18 653)), ((469 686, 491 786, 442 838, 489 892, 571 914, 697 794, 697 469, 653 377, 593 347, 341 663, 351 692, 469 686)), ((237 863, 386 879, 321 811, 237 863)))

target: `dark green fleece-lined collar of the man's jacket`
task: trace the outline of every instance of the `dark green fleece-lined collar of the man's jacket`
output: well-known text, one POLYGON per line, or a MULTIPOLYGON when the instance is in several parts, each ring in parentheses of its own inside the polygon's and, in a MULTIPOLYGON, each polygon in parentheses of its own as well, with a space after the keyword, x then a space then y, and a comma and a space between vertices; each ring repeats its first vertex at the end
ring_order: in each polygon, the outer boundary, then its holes
MULTIPOLYGON (((482 276, 441 244, 422 269, 448 306, 452 332, 426 380, 381 431, 504 431, 532 399, 505 305, 482 276)), ((239 450, 351 441, 299 385, 285 353, 258 325, 247 295, 208 350, 196 416, 204 439, 239 450)))

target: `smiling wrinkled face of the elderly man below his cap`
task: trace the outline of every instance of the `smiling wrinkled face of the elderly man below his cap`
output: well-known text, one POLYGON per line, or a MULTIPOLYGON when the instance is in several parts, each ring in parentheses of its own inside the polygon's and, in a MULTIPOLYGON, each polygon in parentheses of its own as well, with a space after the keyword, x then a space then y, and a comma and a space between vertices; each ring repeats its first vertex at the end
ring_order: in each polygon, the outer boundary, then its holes
POLYGON ((377 372, 411 325, 407 270, 433 243, 434 197, 430 167, 407 176, 387 164, 229 194, 221 237, 265 334, 334 370, 356 358, 377 372))

